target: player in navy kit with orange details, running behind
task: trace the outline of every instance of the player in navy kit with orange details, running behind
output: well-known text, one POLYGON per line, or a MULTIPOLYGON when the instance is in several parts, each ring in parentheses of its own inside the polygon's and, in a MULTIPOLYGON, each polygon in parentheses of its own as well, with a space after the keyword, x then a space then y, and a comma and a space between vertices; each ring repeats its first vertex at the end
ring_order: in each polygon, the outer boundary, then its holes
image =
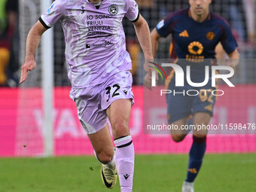
MULTIPOLYGON (((211 66, 215 59, 215 47, 221 42, 230 59, 227 64, 236 67, 239 60, 236 40, 232 35, 227 22, 218 15, 209 11, 211 0, 189 0, 190 8, 175 11, 157 24, 151 32, 153 55, 157 53, 159 38, 166 38, 172 34, 171 58, 177 59, 177 65, 184 70, 191 66, 191 81, 203 82, 205 79, 204 68, 211 66)), ((175 73, 172 70, 168 89, 178 90, 175 87, 175 73), (171 81, 172 80, 172 81, 171 81)), ((184 75, 186 77, 186 75, 184 75)), ((145 85, 150 88, 151 77, 145 76, 145 85)), ((180 88, 181 89, 181 88, 180 88)), ((213 90, 211 82, 204 87, 192 87, 184 84, 184 90, 213 90)), ((179 90, 181 91, 181 90, 179 90)), ((194 125, 208 125, 215 105, 215 96, 207 93, 206 96, 166 95, 168 123, 181 127, 192 116, 194 125)), ((187 135, 187 130, 171 130, 172 139, 181 142, 187 135)), ((190 148, 187 178, 182 192, 194 192, 194 180, 203 163, 206 151, 207 130, 194 130, 193 144, 190 148)))

